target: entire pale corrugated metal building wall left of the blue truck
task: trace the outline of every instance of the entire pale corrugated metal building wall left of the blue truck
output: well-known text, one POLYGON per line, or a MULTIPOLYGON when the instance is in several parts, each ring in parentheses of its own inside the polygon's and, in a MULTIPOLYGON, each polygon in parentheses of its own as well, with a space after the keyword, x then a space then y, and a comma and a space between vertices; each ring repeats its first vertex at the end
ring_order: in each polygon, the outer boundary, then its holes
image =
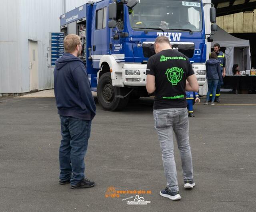
POLYGON ((5 0, 0 6, 0 93, 30 91, 29 40, 38 42, 38 87, 53 88, 46 54, 49 32, 60 31, 59 17, 88 0, 5 0))

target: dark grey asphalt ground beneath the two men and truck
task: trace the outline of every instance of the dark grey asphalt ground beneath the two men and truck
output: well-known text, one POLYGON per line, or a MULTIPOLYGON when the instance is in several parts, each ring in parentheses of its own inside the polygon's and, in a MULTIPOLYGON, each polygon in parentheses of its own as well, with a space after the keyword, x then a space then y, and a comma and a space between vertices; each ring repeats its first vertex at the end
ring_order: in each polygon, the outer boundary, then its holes
POLYGON ((166 179, 152 98, 119 112, 104 111, 97 103, 85 159, 86 177, 96 186, 80 190, 58 184, 61 136, 55 99, 0 98, 0 211, 255 211, 256 95, 222 94, 220 99, 215 106, 194 105, 196 117, 189 119, 193 190, 182 188, 175 144, 182 199, 172 201, 159 195, 166 179), (134 190, 150 202, 128 204, 136 194, 120 192, 134 190))

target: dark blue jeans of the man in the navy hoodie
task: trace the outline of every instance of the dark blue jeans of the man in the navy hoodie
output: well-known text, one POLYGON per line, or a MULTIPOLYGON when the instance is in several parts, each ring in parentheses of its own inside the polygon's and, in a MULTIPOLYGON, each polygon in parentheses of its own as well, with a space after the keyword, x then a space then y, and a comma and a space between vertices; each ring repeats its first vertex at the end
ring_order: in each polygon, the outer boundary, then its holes
POLYGON ((84 156, 90 138, 92 121, 60 115, 60 180, 76 185, 84 178, 84 156))

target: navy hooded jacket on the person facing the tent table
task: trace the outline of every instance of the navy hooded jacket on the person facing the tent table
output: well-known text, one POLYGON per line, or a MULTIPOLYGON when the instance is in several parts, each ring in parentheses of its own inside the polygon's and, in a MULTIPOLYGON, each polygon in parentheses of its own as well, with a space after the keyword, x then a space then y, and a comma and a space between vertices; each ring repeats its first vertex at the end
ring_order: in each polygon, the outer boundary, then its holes
POLYGON ((207 79, 220 79, 222 81, 222 73, 220 71, 220 61, 218 59, 208 59, 206 65, 207 79))

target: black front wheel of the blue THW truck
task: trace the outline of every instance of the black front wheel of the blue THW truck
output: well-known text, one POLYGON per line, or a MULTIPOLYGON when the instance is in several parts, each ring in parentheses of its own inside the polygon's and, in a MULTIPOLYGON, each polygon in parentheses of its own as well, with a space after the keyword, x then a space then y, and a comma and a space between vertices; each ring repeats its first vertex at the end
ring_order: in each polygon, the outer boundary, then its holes
POLYGON ((108 111, 124 109, 128 104, 129 96, 121 99, 116 98, 117 95, 126 95, 124 88, 112 85, 111 73, 102 74, 97 85, 97 97, 103 109, 108 111))

